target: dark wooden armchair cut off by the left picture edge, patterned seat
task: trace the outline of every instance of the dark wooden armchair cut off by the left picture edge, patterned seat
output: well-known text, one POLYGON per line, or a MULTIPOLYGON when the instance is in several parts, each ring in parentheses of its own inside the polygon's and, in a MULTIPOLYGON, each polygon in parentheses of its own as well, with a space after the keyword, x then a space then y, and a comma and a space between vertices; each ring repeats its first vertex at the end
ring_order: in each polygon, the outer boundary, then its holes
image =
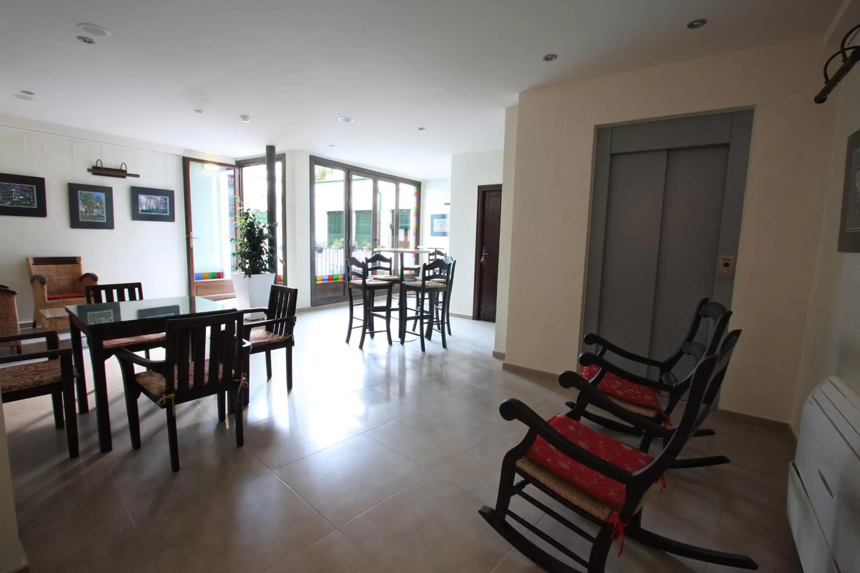
POLYGON ((75 414, 75 369, 72 366, 71 348, 59 350, 57 332, 40 331, 0 337, 3 342, 21 342, 32 338, 45 338, 46 351, 0 357, 0 364, 40 360, 0 368, 0 393, 3 404, 17 400, 51 394, 54 425, 65 427, 69 457, 77 458, 77 415, 75 414))

